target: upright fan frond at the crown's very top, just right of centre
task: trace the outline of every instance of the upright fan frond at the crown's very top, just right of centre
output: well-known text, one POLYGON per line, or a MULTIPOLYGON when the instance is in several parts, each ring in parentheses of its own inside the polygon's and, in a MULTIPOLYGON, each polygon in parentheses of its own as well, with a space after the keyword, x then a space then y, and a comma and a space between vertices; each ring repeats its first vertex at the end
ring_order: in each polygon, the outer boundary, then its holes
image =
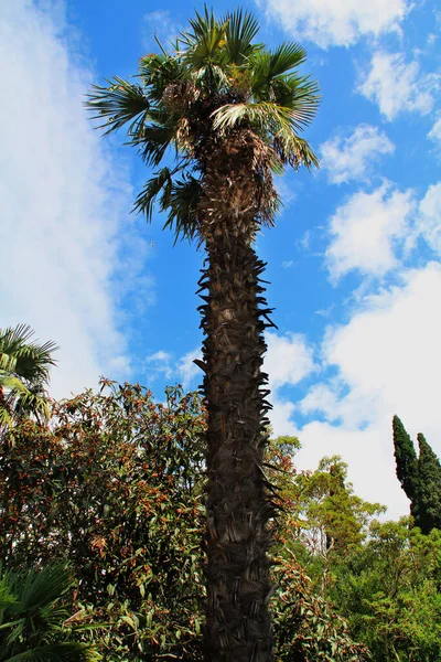
POLYGON ((260 44, 252 44, 259 32, 259 23, 252 14, 244 14, 243 10, 238 9, 228 13, 220 22, 226 25, 224 49, 228 64, 240 66, 261 49, 260 44))

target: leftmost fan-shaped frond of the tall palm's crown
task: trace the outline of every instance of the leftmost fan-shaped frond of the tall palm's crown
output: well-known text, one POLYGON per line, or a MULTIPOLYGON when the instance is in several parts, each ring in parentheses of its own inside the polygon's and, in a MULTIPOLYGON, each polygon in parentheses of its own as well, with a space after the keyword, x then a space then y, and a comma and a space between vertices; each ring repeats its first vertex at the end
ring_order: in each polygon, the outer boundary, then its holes
POLYGON ((136 135, 144 126, 149 118, 150 103, 142 87, 123 81, 118 76, 107 81, 109 85, 101 87, 93 85, 94 92, 87 95, 86 107, 96 113, 92 118, 101 119, 107 117, 106 124, 98 128, 106 129, 105 136, 120 129, 131 121, 128 128, 129 135, 136 135))

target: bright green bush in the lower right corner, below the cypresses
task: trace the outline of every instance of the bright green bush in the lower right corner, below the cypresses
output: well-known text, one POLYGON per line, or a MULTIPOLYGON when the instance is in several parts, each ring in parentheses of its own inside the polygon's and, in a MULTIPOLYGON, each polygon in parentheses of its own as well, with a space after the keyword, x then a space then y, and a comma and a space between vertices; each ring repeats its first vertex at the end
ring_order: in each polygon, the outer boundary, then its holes
POLYGON ((441 660, 441 532, 374 523, 367 544, 334 567, 329 595, 375 662, 441 660))

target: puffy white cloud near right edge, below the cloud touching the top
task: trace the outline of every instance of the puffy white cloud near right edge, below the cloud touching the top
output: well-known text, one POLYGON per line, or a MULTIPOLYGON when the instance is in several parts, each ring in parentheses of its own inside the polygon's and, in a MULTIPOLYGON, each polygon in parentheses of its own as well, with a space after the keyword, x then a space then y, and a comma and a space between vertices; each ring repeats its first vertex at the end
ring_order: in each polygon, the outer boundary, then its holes
POLYGON ((388 120, 399 113, 428 115, 434 106, 439 76, 424 74, 418 62, 408 64, 401 53, 376 51, 370 70, 358 85, 358 92, 378 104, 388 120))

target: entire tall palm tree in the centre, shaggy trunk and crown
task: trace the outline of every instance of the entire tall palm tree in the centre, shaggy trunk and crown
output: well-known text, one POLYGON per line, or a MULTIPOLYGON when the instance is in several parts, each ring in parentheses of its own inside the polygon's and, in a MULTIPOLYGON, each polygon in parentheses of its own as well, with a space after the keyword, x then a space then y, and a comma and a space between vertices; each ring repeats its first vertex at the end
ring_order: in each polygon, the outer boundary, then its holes
POLYGON ((122 127, 154 175, 135 210, 154 201, 176 238, 196 238, 207 260, 200 280, 208 409, 206 659, 273 659, 266 350, 271 312, 265 265, 254 241, 279 207, 273 173, 318 159, 299 132, 312 120, 318 85, 300 75, 304 50, 255 43, 256 19, 241 10, 217 20, 195 14, 170 52, 140 60, 138 82, 115 76, 94 86, 87 106, 105 134, 122 127), (161 163, 165 161, 165 164, 161 163), (172 161, 172 164, 170 162, 172 161))

